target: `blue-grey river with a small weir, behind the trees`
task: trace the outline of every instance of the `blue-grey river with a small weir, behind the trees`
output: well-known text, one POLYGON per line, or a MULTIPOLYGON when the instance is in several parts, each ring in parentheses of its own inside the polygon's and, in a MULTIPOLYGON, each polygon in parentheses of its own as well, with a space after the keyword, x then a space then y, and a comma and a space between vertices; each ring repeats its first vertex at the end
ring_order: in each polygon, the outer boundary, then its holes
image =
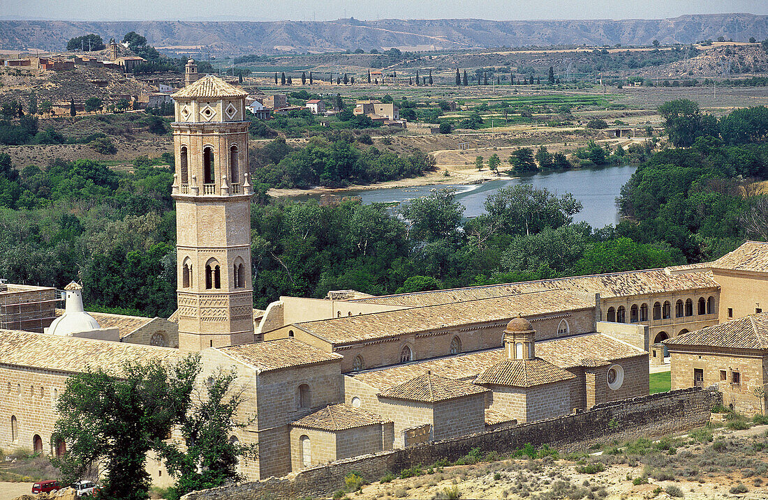
MULTIPOLYGON (((364 203, 374 202, 405 202, 419 196, 429 195, 430 190, 451 188, 456 190, 456 200, 465 206, 465 217, 476 217, 485 211, 484 203, 488 195, 498 189, 515 184, 532 184, 538 188, 561 195, 571 192, 584 206, 581 212, 574 215, 575 221, 588 222, 598 229, 608 224, 616 224, 619 220, 616 208, 616 197, 621 192, 621 186, 627 183, 634 173, 635 166, 607 166, 591 169, 561 170, 548 173, 537 173, 532 176, 521 176, 515 179, 498 179, 487 183, 474 185, 428 185, 391 189, 362 189, 350 190, 343 196, 360 196, 364 203)), ((315 197, 315 196, 313 196, 315 197)))

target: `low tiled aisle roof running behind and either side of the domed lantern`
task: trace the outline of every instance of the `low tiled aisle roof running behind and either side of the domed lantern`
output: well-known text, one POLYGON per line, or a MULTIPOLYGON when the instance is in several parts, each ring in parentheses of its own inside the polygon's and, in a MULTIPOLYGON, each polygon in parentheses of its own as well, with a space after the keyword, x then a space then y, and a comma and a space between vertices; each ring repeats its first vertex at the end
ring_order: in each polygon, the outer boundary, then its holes
MULTIPOLYGON (((644 350, 625 344, 605 334, 581 334, 536 342, 536 355, 557 367, 568 369, 581 366, 605 366, 611 361, 628 357, 647 356, 644 350)), ((426 370, 441 377, 472 382, 488 367, 505 359, 504 348, 478 350, 433 360, 399 364, 388 368, 376 368, 359 373, 347 373, 359 382, 376 390, 407 382, 419 377, 426 370)))

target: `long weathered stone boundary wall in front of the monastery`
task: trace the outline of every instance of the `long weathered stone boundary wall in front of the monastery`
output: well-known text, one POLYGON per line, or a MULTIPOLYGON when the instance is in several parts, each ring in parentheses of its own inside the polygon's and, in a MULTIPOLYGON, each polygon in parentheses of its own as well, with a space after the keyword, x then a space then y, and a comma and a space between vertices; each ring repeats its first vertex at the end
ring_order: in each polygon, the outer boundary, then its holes
POLYGON ((292 472, 285 478, 188 493, 182 500, 324 498, 341 488, 344 476, 353 471, 372 482, 378 481, 387 472, 399 472, 413 465, 429 465, 444 458, 458 459, 476 447, 484 452, 509 453, 531 443, 533 446, 548 444, 554 449, 573 452, 614 439, 629 441, 641 437, 661 437, 706 425, 710 420, 710 409, 721 403, 719 392, 699 387, 651 394, 603 403, 584 413, 337 460, 292 472))

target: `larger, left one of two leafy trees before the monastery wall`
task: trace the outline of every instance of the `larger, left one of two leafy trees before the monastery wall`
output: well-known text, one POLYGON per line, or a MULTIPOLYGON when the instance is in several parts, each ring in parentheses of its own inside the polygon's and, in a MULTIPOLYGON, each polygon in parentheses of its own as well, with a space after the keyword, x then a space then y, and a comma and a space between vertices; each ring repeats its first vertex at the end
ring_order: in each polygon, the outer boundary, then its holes
POLYGON ((51 446, 68 445, 64 456, 53 459, 65 482, 99 465, 104 498, 149 498, 147 452, 187 413, 198 366, 197 357, 187 357, 172 367, 130 362, 117 373, 88 369, 69 377, 51 436, 51 446))

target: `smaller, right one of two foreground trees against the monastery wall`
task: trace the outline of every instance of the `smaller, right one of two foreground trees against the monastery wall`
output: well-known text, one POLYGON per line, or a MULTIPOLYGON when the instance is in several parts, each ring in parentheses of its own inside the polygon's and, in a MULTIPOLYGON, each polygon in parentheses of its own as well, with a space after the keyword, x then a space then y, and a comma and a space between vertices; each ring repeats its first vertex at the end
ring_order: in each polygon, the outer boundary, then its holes
MULTIPOLYGON (((196 369, 199 373, 199 362, 196 369)), ((154 448, 170 475, 176 478, 172 494, 176 498, 216 488, 227 481, 243 480, 243 475, 237 472, 238 460, 255 458, 254 446, 230 439, 234 429, 250 423, 237 421, 237 408, 245 397, 243 387, 234 387, 236 380, 237 373, 219 370, 207 380, 204 391, 192 390, 195 397, 191 398, 187 412, 178 415, 184 442, 155 440, 154 448)))

